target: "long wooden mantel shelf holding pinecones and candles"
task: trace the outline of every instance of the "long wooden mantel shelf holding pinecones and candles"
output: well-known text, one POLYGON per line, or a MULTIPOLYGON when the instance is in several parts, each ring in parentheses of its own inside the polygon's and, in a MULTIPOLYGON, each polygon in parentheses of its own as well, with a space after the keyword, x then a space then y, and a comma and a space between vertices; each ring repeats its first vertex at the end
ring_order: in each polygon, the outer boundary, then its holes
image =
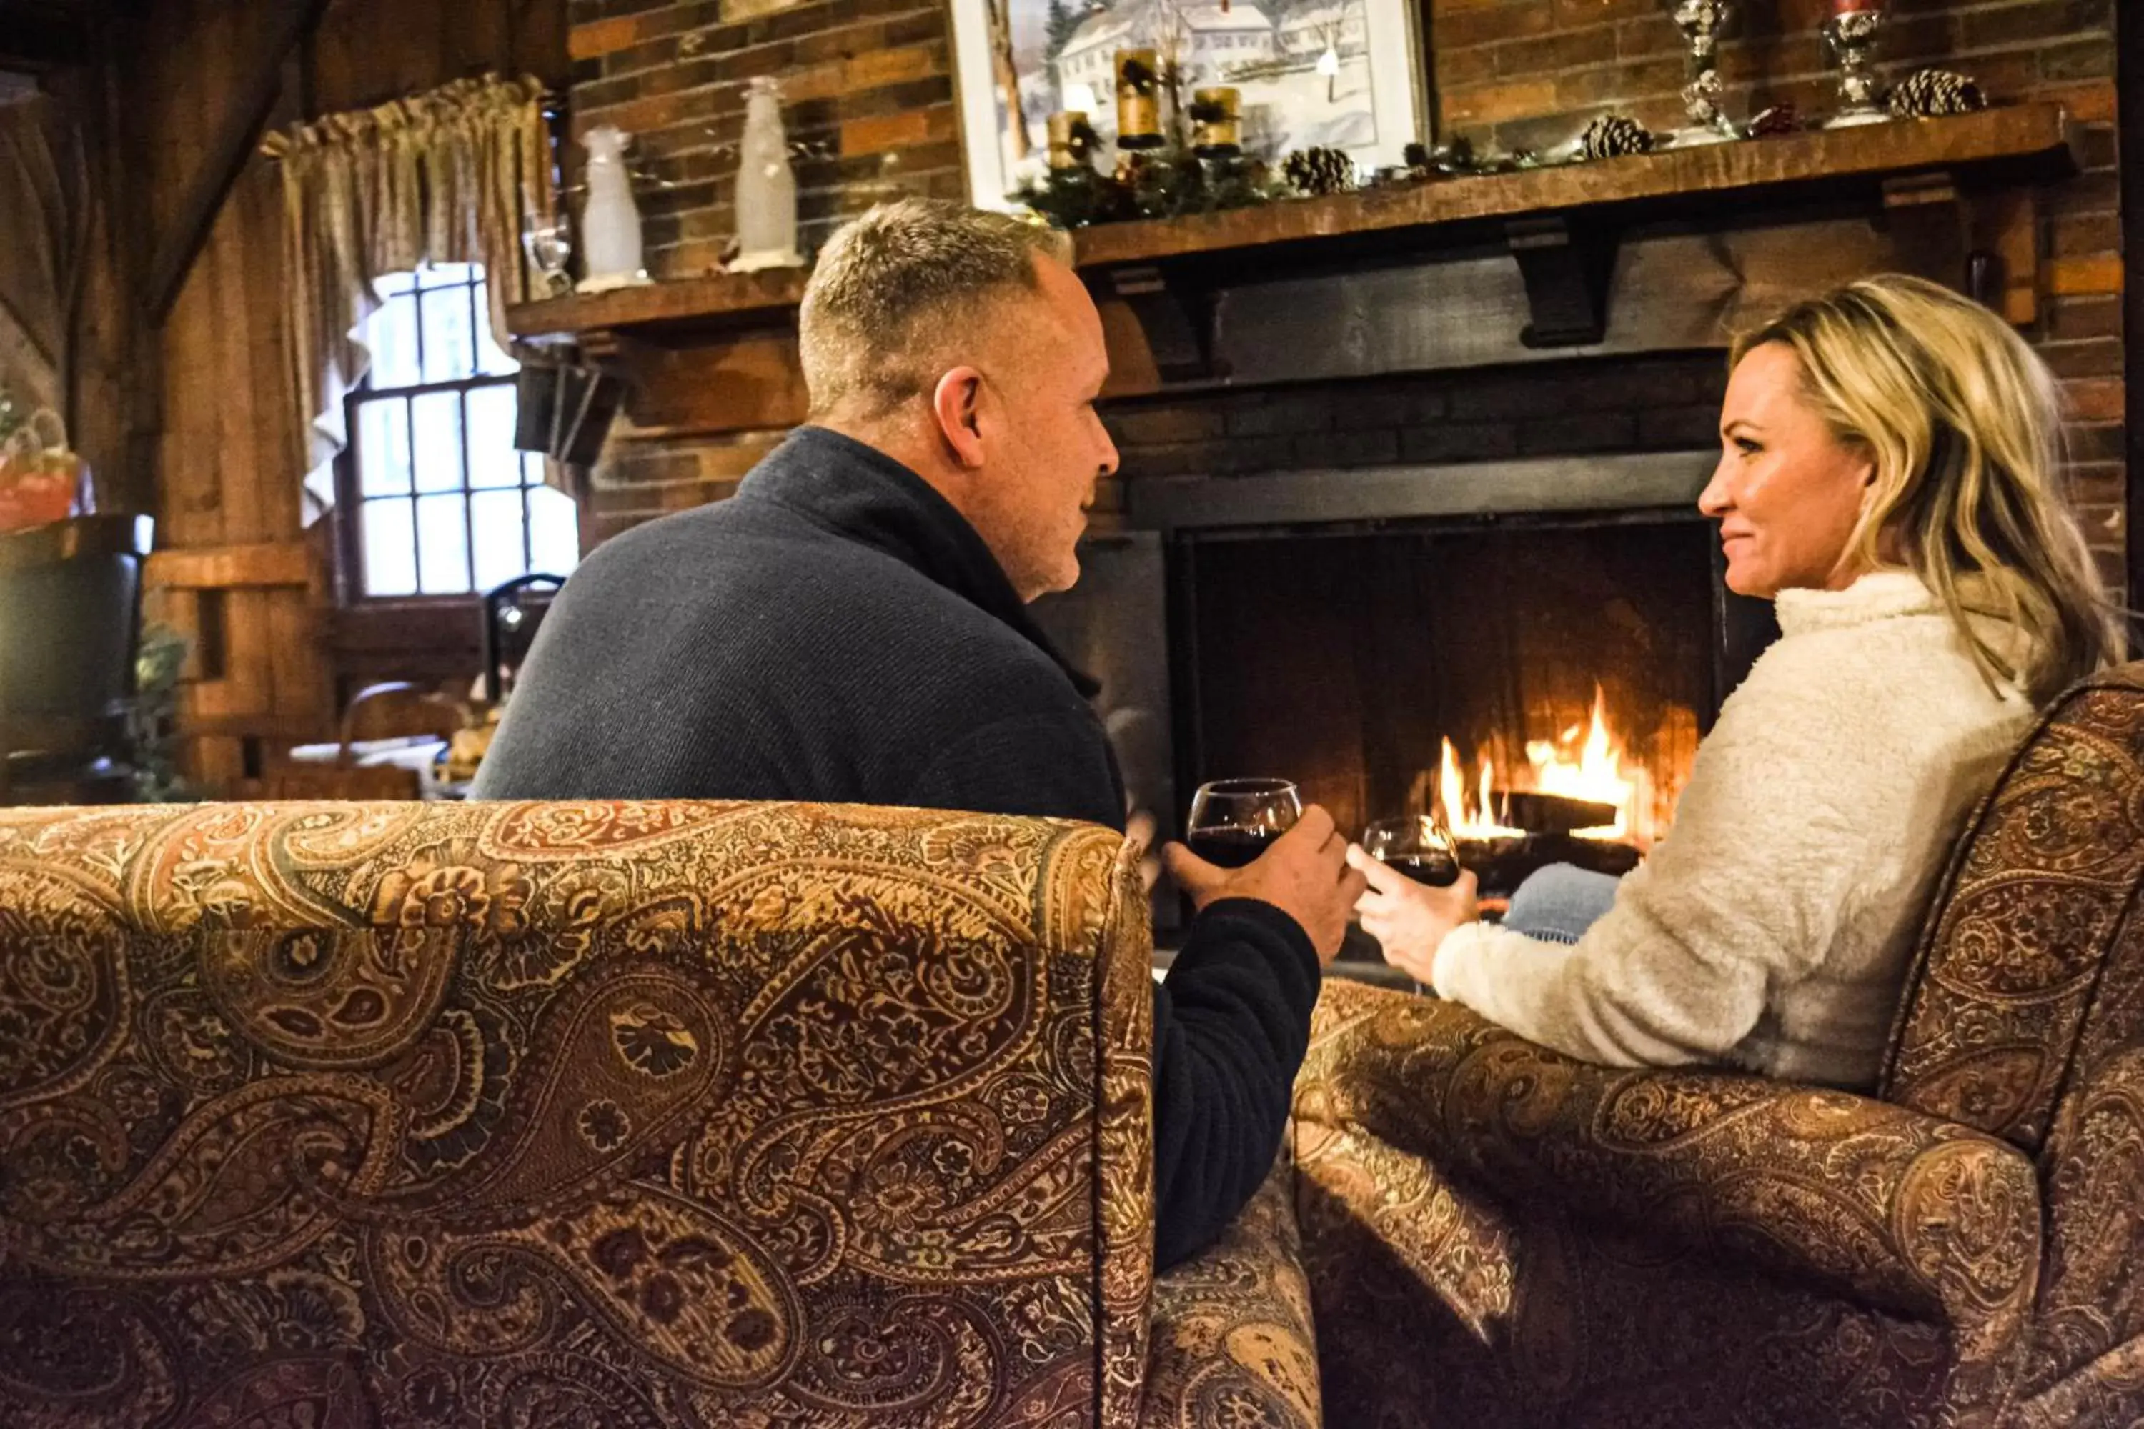
MULTIPOLYGON (((1081 229, 1074 249, 1078 268, 1104 291, 1128 300, 1164 294, 1171 304, 1181 304, 1181 274, 1190 268, 1216 266, 1241 276, 1366 246, 1391 253, 1497 236, 1527 268, 1535 328, 1544 317, 1565 324, 1559 332, 1539 332, 1542 345, 1557 345, 1559 334, 1563 343, 1584 341, 1599 324, 1597 311, 1591 326, 1584 311, 1554 315, 1557 304, 1582 309, 1591 300, 1597 309, 1599 302, 1597 283, 1587 279, 1589 264, 1597 268, 1597 255, 1574 246, 1574 231, 1597 234, 1602 225, 1717 212, 1724 204, 1792 201, 1818 191, 1889 191, 1897 204, 1900 191, 1917 191, 1917 176, 1942 176, 1957 184, 2063 178, 2078 167, 2073 144, 2058 105, 2009 105, 1942 120, 1812 131, 1188 219, 1113 223, 1081 229), (1574 283, 1591 287, 1578 291, 1574 283)), ((1925 182, 1919 193, 1927 195, 1925 182)), ((705 343, 712 336, 708 330, 787 321, 804 276, 802 270, 716 274, 551 298, 508 309, 506 321, 527 339, 615 334, 665 347, 705 343)), ((1149 336, 1158 336, 1151 324, 1149 336)))

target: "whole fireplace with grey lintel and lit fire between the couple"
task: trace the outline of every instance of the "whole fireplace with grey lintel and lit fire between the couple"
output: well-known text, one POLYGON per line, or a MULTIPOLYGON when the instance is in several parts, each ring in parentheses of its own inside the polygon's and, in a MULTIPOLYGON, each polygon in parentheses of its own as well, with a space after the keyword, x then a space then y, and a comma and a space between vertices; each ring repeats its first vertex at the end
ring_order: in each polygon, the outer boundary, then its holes
MULTIPOLYGON (((1038 604, 1162 831, 1211 778, 1278 773, 1344 831, 1449 786, 1629 786, 1666 833, 1698 737, 1773 636, 1719 581, 1711 452, 1134 478, 1130 527, 1038 604), (1602 728, 1595 731, 1595 713, 1602 728), (1449 741, 1449 752, 1447 752, 1449 741), (1449 769, 1449 771, 1447 771, 1449 769), (1443 778, 1441 778, 1443 776, 1443 778)), ((1164 911, 1166 913, 1166 911, 1164 911)))

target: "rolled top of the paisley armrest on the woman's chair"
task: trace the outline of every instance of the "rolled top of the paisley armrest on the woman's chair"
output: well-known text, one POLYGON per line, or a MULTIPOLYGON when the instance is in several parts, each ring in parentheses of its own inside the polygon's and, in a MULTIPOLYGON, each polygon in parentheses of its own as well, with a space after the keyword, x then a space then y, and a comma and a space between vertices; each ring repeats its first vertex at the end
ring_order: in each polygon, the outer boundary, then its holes
POLYGON ((1295 1114, 1987 1348, 2039 1266, 2039 1183, 2005 1142, 1850 1093, 1593 1067, 1436 998, 1327 983, 1295 1114))

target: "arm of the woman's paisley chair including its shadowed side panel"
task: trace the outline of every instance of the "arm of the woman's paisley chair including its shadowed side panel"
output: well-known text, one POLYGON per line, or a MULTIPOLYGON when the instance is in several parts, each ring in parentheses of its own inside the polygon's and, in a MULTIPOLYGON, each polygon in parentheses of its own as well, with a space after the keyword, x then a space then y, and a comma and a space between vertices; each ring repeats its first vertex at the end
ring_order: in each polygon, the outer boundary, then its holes
POLYGON ((1400 1358, 1428 1423, 1910 1425, 2002 1393, 2039 1195, 1983 1133, 1340 983, 1295 1112, 1334 1423, 1406 1423, 1400 1358))

